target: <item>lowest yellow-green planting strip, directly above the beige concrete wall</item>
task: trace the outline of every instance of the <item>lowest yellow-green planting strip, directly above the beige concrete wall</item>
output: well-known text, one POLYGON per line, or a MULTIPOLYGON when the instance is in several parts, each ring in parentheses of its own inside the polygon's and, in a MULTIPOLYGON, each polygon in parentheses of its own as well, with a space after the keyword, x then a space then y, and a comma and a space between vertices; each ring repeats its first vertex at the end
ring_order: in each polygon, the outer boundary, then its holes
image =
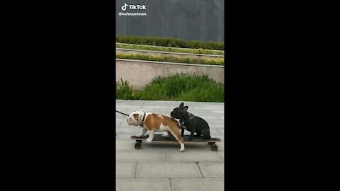
POLYGON ((116 54, 118 59, 137 59, 137 60, 147 60, 147 61, 157 61, 157 62, 176 62, 176 63, 186 63, 186 64, 209 64, 209 65, 225 65, 224 58, 183 58, 183 57, 162 57, 154 56, 148 54, 116 54))

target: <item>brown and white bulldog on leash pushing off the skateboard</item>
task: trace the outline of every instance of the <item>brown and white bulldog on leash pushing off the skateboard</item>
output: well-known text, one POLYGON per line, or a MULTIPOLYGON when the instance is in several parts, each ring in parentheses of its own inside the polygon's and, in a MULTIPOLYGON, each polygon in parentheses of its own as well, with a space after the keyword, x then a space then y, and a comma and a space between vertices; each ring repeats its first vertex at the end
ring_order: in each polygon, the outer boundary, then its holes
POLYGON ((181 144, 180 152, 184 151, 184 140, 181 137, 181 130, 179 122, 172 117, 165 115, 158 115, 151 112, 135 111, 130 113, 128 118, 128 125, 142 126, 142 132, 136 137, 143 137, 149 130, 149 138, 147 142, 151 142, 154 139, 154 132, 169 131, 181 144))

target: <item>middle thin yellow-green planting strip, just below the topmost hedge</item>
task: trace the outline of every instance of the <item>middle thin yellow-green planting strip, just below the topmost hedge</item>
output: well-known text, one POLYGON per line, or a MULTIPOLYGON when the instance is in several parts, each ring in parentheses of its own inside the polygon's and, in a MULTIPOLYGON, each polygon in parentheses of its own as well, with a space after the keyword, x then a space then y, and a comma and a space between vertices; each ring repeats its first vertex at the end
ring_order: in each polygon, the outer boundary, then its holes
POLYGON ((133 50, 152 50, 152 51, 162 51, 162 52, 180 52, 180 53, 191 53, 191 54, 212 54, 212 55, 224 55, 224 51, 218 50, 203 50, 203 49, 185 49, 185 48, 176 48, 176 47, 151 47, 149 45, 122 45, 115 44, 117 48, 126 48, 133 50))

